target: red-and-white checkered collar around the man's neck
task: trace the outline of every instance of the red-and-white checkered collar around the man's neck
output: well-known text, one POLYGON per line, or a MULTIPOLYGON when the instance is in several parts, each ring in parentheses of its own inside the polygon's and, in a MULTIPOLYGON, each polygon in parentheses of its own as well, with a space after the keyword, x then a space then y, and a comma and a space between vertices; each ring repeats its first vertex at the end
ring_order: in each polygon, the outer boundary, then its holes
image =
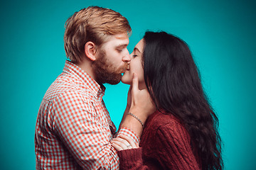
POLYGON ((89 87, 90 90, 92 90, 92 94, 94 94, 94 96, 97 96, 100 98, 104 96, 105 89, 106 89, 105 86, 98 84, 94 79, 92 79, 92 77, 90 77, 89 74, 87 74, 87 72, 82 70, 73 62, 66 60, 63 72, 65 72, 66 74, 72 74, 77 79, 79 79, 82 83, 80 85, 83 86, 84 88, 89 87))

